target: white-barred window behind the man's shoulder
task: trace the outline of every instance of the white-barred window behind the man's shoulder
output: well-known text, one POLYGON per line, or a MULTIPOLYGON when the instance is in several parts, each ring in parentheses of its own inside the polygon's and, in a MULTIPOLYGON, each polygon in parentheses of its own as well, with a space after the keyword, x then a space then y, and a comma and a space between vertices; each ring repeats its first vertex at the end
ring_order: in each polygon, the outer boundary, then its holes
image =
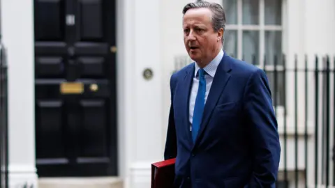
POLYGON ((223 8, 225 52, 264 68, 274 105, 283 106, 282 1, 223 0, 223 8))

